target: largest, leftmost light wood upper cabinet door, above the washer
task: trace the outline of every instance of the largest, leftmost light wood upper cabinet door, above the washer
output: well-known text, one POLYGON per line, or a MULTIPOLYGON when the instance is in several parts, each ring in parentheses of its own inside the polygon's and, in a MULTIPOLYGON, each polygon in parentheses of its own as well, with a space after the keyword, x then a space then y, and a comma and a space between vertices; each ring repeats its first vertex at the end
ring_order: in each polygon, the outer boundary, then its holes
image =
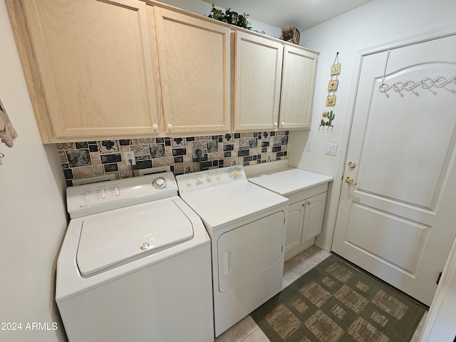
POLYGON ((17 29, 31 36, 33 53, 21 45, 27 38, 18 48, 23 63, 31 63, 31 75, 25 73, 43 142, 154 133, 157 102, 145 4, 10 2, 10 9, 23 6, 26 14, 27 25, 17 29))

